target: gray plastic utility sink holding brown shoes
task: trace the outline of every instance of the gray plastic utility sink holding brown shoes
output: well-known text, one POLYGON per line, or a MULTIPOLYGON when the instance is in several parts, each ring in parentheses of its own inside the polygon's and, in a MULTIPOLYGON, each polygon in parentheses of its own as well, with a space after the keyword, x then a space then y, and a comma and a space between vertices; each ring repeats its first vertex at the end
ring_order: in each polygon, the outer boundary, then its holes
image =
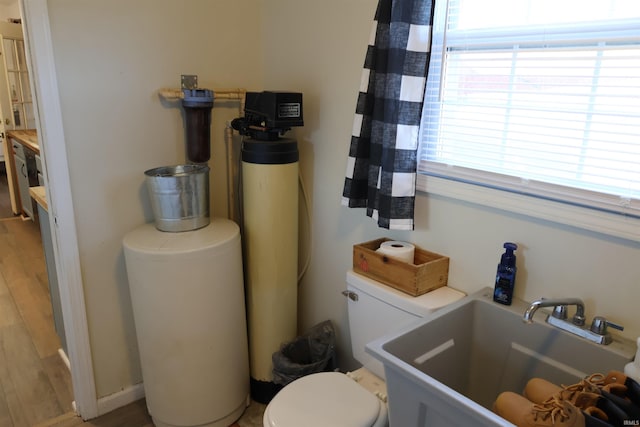
POLYGON ((484 288, 367 345, 384 364, 391 427, 511 426, 491 411, 498 394, 521 393, 530 378, 558 385, 624 369, 635 343, 599 345, 545 323, 529 306, 492 301, 484 288))

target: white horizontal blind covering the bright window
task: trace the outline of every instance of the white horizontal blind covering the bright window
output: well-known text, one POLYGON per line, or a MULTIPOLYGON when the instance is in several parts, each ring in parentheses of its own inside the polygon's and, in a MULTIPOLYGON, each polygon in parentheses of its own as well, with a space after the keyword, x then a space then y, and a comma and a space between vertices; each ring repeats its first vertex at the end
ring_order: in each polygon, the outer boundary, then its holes
POLYGON ((640 217, 640 1, 440 0, 419 171, 640 217))

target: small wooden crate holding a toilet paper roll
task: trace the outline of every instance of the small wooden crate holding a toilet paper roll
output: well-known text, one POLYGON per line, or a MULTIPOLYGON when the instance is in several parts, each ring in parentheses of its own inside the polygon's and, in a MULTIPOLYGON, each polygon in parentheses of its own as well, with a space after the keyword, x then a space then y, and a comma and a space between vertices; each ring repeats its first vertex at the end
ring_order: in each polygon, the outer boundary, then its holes
POLYGON ((354 271, 412 296, 447 285, 448 257, 416 246, 414 263, 410 264, 376 252, 387 240, 391 239, 381 238, 354 245, 354 271))

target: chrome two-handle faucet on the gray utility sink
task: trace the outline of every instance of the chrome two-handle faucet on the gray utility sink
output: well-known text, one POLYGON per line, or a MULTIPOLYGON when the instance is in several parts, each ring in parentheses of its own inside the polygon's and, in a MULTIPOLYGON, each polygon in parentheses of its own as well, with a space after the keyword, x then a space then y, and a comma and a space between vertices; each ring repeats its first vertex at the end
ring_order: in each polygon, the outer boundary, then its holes
POLYGON ((584 302, 579 298, 540 298, 535 300, 524 312, 522 321, 525 323, 532 323, 533 315, 540 307, 553 307, 553 312, 551 315, 547 316, 548 324, 564 331, 571 332, 574 335, 578 335, 597 344, 610 344, 613 340, 611 334, 607 332, 607 326, 620 331, 624 329, 622 326, 609 322, 601 316, 593 318, 590 328, 584 328, 584 302), (567 321, 568 305, 576 306, 576 314, 573 316, 571 322, 567 321))

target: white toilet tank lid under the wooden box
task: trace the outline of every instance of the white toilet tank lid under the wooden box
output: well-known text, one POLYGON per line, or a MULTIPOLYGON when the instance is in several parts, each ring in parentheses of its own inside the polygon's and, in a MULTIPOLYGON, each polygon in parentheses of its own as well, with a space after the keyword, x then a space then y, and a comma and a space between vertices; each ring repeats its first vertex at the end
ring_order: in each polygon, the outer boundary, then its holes
POLYGON ((398 291, 384 283, 347 271, 347 285, 365 292, 387 304, 393 305, 416 316, 426 316, 435 310, 462 299, 466 294, 449 286, 434 289, 426 294, 414 297, 398 291))

